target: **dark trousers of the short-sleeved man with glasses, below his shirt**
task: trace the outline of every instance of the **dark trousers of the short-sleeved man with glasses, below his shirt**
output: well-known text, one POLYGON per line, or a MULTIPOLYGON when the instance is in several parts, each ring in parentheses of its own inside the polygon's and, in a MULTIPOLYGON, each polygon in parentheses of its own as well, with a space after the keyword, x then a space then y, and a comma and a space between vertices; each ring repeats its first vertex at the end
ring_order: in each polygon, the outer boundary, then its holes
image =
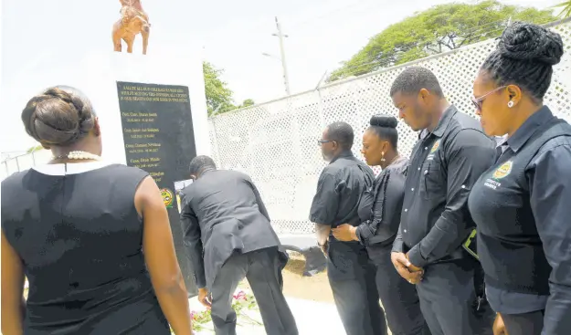
MULTIPOLYGON (((329 277, 333 299, 347 335, 386 335, 385 312, 375 286, 375 266, 368 262, 359 276, 334 280, 329 277), (362 275, 362 276, 361 276, 362 275)), ((328 274, 330 273, 328 268, 328 274)))

